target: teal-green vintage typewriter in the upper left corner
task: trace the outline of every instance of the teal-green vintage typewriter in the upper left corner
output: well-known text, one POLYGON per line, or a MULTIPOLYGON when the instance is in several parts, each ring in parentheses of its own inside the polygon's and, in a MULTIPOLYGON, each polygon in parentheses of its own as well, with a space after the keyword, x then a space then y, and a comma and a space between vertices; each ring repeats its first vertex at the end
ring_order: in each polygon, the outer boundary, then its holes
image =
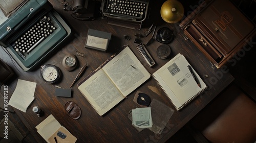
POLYGON ((47 0, 30 0, 10 17, 0 16, 5 19, 0 45, 24 71, 38 66, 71 33, 47 0))

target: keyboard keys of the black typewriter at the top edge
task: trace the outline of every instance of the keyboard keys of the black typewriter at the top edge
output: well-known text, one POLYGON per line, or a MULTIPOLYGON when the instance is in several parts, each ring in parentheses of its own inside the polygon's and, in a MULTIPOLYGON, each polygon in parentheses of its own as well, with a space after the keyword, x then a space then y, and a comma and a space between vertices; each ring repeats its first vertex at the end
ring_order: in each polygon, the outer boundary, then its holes
POLYGON ((146 13, 147 3, 143 1, 109 0, 106 12, 116 16, 142 18, 146 13))

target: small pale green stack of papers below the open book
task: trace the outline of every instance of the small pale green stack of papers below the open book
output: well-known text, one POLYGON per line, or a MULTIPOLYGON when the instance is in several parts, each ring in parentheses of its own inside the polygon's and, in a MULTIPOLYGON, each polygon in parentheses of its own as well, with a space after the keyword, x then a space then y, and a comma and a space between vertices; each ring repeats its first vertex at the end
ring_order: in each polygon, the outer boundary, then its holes
POLYGON ((152 128, 151 107, 136 108, 133 112, 133 124, 139 128, 152 128))

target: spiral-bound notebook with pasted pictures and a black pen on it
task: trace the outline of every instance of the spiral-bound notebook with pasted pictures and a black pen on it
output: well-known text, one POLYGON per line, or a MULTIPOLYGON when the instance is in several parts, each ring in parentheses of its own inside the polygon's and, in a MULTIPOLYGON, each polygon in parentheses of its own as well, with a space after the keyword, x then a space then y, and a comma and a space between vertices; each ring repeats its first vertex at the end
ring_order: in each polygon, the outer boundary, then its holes
POLYGON ((191 67, 186 58, 178 54, 152 75, 177 110, 183 108, 207 88, 193 67, 190 71, 188 65, 191 67))

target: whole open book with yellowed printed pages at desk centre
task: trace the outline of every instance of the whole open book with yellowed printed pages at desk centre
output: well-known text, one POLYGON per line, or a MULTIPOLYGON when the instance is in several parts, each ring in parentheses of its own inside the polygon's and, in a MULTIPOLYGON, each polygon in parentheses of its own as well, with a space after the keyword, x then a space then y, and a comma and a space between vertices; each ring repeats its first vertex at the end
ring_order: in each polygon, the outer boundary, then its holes
POLYGON ((126 46, 78 83, 78 89, 98 114, 103 115, 150 77, 130 47, 126 46))

